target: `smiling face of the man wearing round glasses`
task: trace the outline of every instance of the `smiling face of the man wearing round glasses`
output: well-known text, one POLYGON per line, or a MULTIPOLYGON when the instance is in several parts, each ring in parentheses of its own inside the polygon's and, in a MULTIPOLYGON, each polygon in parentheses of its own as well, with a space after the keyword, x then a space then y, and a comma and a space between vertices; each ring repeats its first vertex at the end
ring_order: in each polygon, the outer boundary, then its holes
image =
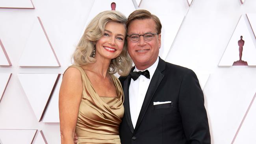
MULTIPOLYGON (((158 33, 153 19, 133 20, 130 23, 128 35, 144 33, 158 33)), ((130 37, 127 37, 127 42, 128 53, 139 70, 144 70, 155 63, 161 47, 161 34, 154 35, 150 41, 145 41, 143 36, 140 36, 138 42, 132 42, 130 37)))

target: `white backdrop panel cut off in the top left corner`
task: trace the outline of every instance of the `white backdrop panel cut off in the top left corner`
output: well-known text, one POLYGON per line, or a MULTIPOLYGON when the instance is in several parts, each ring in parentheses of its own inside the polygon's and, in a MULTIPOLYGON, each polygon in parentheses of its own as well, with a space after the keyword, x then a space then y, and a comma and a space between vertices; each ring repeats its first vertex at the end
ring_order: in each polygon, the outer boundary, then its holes
POLYGON ((0 8, 35 9, 31 0, 0 0, 0 8))

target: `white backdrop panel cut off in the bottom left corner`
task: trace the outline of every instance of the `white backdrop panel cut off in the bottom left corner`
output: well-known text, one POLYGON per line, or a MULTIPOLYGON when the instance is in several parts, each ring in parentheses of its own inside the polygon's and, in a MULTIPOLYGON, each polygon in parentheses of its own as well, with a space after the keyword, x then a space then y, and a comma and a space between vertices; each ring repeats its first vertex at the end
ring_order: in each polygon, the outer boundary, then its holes
POLYGON ((36 129, 0 129, 1 144, 31 144, 36 129))

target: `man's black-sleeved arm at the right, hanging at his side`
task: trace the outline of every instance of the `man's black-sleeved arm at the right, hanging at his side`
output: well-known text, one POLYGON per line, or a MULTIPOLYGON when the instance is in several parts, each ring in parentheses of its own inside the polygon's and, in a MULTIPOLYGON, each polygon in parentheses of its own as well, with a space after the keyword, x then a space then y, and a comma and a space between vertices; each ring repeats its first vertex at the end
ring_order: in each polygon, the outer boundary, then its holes
POLYGON ((182 79, 178 108, 189 143, 210 144, 211 138, 207 113, 204 107, 204 94, 197 76, 192 70, 189 70, 182 79))

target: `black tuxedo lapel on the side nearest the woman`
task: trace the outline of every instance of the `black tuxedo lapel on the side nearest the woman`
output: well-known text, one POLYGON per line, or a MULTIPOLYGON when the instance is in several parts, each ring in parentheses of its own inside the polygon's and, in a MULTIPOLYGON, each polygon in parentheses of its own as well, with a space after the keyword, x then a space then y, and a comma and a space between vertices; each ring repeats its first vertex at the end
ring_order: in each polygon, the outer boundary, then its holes
MULTIPOLYGON (((134 68, 132 68, 133 70, 134 68)), ((132 77, 130 75, 127 76, 127 78, 124 80, 124 114, 126 116, 126 121, 128 123, 128 126, 132 133, 134 133, 134 127, 132 125, 132 118, 130 113, 130 102, 129 102, 129 86, 131 83, 132 77)))

